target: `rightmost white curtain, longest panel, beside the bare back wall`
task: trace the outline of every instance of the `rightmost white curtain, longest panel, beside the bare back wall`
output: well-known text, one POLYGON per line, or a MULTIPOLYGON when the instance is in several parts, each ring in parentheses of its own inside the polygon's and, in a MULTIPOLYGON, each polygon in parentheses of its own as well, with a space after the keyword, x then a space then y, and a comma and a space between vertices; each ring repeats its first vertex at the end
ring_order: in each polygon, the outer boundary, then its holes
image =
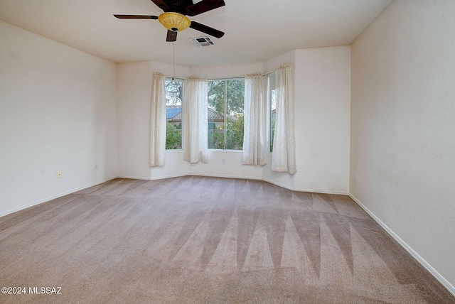
POLYGON ((275 94, 277 119, 275 121, 272 170, 294 174, 297 170, 292 65, 284 65, 275 70, 275 94))

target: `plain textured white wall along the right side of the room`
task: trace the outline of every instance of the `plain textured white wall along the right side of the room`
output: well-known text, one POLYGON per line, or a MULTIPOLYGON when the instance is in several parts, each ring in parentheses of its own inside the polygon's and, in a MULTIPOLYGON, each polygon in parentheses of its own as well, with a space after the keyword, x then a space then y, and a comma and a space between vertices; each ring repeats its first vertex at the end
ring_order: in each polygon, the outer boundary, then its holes
POLYGON ((454 46, 454 1, 382 13, 352 46, 350 150, 351 195, 452 293, 454 46))

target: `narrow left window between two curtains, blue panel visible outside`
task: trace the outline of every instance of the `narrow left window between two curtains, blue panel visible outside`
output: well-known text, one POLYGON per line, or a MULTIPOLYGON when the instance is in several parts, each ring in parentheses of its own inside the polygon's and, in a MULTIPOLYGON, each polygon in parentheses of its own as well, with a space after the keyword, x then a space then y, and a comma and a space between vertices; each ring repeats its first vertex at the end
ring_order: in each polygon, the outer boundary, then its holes
POLYGON ((183 80, 166 79, 166 150, 182 148, 183 80))

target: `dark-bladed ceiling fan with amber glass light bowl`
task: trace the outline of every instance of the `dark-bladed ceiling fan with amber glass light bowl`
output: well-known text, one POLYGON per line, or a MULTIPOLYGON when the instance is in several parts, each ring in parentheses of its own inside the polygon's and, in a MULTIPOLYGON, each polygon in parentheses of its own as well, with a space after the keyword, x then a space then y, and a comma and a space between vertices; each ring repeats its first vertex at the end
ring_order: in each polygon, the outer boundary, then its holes
POLYGON ((173 42, 177 40, 177 32, 183 31, 186 28, 193 28, 211 35, 216 38, 221 38, 225 33, 218 31, 210 26, 205 26, 196 21, 190 21, 188 16, 196 16, 206 11, 218 9, 225 6, 223 0, 202 0, 193 4, 192 0, 151 0, 156 6, 164 11, 159 16, 147 15, 115 15, 119 19, 158 19, 158 21, 168 29, 166 41, 173 42))

